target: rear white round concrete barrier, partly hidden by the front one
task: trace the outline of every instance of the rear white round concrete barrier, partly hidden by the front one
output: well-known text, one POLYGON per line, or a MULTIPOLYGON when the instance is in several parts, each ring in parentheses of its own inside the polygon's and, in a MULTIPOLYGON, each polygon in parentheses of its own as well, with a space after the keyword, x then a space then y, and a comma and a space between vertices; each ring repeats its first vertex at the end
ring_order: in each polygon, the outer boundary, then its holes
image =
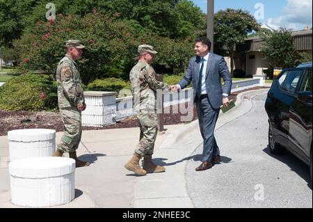
POLYGON ((8 132, 10 161, 30 157, 51 157, 56 151, 54 129, 16 129, 8 132))

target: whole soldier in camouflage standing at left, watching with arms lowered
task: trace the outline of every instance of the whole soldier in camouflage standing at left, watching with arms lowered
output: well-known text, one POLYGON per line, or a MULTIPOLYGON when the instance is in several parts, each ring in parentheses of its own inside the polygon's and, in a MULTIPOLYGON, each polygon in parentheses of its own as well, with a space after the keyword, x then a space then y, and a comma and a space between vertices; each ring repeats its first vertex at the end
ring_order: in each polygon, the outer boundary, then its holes
POLYGON ((81 111, 86 109, 86 104, 79 69, 74 61, 81 58, 84 46, 79 40, 67 40, 66 47, 67 54, 56 68, 58 108, 65 129, 54 157, 62 157, 64 152, 68 152, 70 158, 75 159, 77 167, 88 166, 88 161, 77 159, 76 153, 81 141, 81 111))

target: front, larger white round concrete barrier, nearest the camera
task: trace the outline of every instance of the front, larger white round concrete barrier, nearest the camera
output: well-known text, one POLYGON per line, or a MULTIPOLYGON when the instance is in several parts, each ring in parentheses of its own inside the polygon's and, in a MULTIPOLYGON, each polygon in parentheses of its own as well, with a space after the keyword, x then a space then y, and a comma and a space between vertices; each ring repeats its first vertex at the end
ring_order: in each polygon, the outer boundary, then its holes
POLYGON ((35 157, 10 162, 11 202, 24 207, 52 207, 74 199, 75 161, 35 157))

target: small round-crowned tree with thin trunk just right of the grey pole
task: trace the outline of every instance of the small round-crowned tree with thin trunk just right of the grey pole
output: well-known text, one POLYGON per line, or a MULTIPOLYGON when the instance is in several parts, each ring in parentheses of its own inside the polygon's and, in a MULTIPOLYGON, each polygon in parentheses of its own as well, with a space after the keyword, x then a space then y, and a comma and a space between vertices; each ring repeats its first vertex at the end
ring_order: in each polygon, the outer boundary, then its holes
POLYGON ((227 8, 214 15, 214 41, 225 45, 230 54, 230 70, 233 75, 235 46, 243 44, 248 33, 259 30, 255 17, 246 10, 227 8))

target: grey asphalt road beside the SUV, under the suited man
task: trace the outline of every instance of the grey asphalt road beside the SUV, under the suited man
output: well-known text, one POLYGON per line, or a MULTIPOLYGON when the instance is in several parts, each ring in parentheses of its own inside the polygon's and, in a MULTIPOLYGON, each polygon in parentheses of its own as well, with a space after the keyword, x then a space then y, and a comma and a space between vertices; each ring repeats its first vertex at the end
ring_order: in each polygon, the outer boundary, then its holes
POLYGON ((222 163, 196 172, 202 145, 186 165, 186 187, 194 207, 312 207, 310 170, 294 155, 268 150, 266 93, 252 109, 216 129, 222 163))

